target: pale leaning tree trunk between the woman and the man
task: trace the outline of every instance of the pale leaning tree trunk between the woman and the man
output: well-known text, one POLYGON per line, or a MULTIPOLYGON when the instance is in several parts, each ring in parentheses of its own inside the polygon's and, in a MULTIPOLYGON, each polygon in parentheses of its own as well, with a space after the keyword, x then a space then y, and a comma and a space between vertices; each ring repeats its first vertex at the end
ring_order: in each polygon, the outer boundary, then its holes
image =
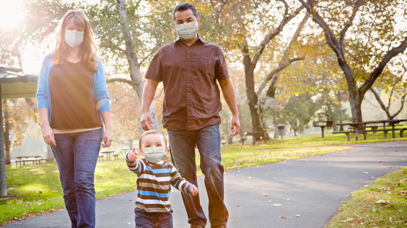
MULTIPOLYGON (((137 96, 142 102, 144 82, 141 76, 140 67, 141 64, 138 62, 136 52, 134 50, 132 34, 127 23, 127 12, 124 0, 117 0, 117 9, 120 13, 121 26, 123 31, 124 43, 126 46, 125 55, 127 57, 128 69, 130 71, 130 77, 132 79, 132 86, 136 90, 137 96)), ((153 103, 151 103, 149 108, 149 113, 153 121, 152 129, 160 130, 160 123, 157 118, 157 113, 155 111, 153 103)))

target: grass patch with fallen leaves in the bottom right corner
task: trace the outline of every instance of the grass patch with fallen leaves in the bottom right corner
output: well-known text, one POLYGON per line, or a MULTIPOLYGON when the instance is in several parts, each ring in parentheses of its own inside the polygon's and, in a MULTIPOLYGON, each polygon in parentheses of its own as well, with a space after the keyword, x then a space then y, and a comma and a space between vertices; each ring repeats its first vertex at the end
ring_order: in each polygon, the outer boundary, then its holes
POLYGON ((327 227, 406 227, 407 167, 353 193, 327 227), (389 194, 391 193, 391 194, 389 194), (376 203, 378 200, 388 201, 376 203))

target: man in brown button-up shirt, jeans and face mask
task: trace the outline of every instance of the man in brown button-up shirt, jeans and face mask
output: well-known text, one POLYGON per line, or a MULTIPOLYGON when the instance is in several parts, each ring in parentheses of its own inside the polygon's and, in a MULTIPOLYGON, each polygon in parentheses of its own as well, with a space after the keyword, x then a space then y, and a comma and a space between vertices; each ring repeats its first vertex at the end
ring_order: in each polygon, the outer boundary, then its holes
MULTIPOLYGON (((162 125, 168 130, 172 161, 187 181, 195 184, 195 145, 200 168, 205 174, 212 227, 226 228, 228 210, 224 204, 224 168, 220 164, 219 111, 222 108, 219 82, 232 112, 231 133, 239 133, 236 98, 223 52, 197 33, 199 17, 189 3, 180 3, 173 13, 178 37, 155 54, 145 78, 141 125, 152 125, 149 107, 160 81, 164 85, 162 125)), ((199 196, 182 194, 191 227, 205 227, 207 219, 199 196)))

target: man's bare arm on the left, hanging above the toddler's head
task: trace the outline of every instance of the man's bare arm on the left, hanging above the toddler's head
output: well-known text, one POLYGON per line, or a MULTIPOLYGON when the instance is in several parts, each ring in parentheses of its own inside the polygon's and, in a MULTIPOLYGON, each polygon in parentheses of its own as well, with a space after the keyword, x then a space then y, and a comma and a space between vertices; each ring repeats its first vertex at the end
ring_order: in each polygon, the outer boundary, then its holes
POLYGON ((141 127, 144 131, 150 130, 150 126, 153 126, 149 109, 159 83, 159 81, 148 79, 144 85, 143 100, 141 102, 141 127))

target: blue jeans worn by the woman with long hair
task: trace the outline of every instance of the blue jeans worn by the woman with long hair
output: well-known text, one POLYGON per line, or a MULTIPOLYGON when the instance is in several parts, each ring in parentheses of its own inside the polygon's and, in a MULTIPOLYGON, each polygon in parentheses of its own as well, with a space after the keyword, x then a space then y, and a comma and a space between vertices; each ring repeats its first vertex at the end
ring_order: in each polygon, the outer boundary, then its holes
POLYGON ((72 228, 95 227, 95 167, 101 130, 55 134, 51 146, 57 160, 66 210, 72 228))

